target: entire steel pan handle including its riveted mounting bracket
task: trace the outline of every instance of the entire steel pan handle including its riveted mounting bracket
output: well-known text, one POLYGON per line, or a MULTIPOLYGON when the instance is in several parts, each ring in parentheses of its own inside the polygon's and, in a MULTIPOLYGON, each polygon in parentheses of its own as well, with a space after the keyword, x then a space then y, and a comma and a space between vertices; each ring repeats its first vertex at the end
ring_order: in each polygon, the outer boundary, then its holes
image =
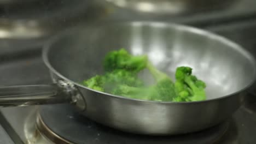
POLYGON ((85 101, 72 83, 0 87, 0 107, 71 103, 79 110, 85 101))

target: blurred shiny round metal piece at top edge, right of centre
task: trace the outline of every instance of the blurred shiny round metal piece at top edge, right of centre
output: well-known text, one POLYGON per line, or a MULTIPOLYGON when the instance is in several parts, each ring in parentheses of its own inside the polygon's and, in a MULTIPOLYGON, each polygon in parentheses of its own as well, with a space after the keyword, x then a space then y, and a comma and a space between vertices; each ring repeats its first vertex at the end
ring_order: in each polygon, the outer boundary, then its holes
POLYGON ((236 0, 100 0, 141 13, 184 14, 229 7, 236 0))

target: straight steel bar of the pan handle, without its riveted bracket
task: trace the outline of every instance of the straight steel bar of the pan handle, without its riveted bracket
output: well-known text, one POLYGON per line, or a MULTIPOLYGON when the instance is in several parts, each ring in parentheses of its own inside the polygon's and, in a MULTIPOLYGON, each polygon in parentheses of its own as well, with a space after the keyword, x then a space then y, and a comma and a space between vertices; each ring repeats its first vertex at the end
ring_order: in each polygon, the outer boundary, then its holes
POLYGON ((0 106, 27 106, 68 103, 71 97, 56 85, 0 87, 0 106))

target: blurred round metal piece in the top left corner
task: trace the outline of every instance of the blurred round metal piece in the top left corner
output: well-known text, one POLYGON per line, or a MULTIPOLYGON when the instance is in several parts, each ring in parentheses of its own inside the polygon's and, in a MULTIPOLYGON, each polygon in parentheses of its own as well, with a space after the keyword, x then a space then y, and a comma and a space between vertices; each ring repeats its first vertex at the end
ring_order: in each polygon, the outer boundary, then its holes
POLYGON ((0 14, 0 57, 3 57, 42 49, 51 35, 80 21, 98 19, 104 9, 91 1, 21 0, 7 3, 0 0, 0 14))

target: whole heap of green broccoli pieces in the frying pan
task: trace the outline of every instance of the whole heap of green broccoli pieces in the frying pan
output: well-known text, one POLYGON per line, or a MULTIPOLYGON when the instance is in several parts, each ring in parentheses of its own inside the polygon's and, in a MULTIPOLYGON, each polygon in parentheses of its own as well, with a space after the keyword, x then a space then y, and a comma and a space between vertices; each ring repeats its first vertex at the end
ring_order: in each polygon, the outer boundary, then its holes
POLYGON ((154 101, 196 101, 205 100, 206 84, 191 75, 190 67, 178 67, 173 82, 171 77, 158 70, 148 57, 132 56, 125 49, 111 51, 104 58, 103 75, 96 75, 83 81, 83 85, 96 91, 107 92, 127 98, 154 101), (146 86, 139 79, 141 70, 148 69, 155 83, 146 86))

